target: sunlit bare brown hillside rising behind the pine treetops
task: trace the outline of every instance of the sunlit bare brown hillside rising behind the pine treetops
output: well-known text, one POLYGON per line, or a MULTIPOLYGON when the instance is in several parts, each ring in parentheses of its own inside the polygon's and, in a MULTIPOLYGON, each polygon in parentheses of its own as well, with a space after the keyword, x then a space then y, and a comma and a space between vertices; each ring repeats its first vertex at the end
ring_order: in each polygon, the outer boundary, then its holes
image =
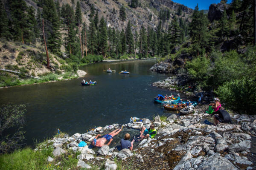
MULTIPOLYGON (((35 0, 25 0, 30 6, 35 9, 38 8, 35 0)), ((56 1, 56 0, 55 0, 56 1)), ((117 28, 119 31, 126 28, 128 21, 131 21, 132 29, 140 31, 141 26, 145 28, 152 27, 157 28, 160 21, 160 10, 169 9, 171 12, 170 18, 172 19, 177 13, 178 8, 182 10, 182 16, 184 20, 189 20, 189 16, 193 13, 191 8, 188 8, 182 4, 174 3, 172 0, 140 0, 137 8, 131 8, 131 0, 58 0, 60 6, 69 4, 75 10, 77 1, 80 2, 82 20, 89 26, 90 7, 94 6, 95 10, 99 12, 99 18, 104 17, 107 21, 107 26, 111 28, 117 28), (119 19, 119 11, 121 6, 125 7, 127 20, 122 21, 119 19), (115 8, 116 13, 113 13, 115 8)), ((163 28, 167 29, 171 20, 167 20, 163 23, 163 28)))

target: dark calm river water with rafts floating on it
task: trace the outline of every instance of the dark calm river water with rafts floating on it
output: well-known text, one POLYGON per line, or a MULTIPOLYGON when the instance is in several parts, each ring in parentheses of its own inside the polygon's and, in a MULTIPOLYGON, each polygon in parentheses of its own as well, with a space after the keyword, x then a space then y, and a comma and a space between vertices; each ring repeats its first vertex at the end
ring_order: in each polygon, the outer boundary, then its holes
MULTIPOLYGON (((154 103, 157 94, 169 91, 151 86, 153 82, 168 77, 151 72, 156 60, 125 62, 100 62, 81 67, 87 72, 85 80, 97 85, 81 86, 81 80, 63 80, 45 84, 26 85, 0 89, 0 105, 26 104, 26 144, 47 139, 58 128, 72 135, 86 133, 94 126, 113 123, 125 124, 131 116, 152 119, 166 114, 163 106, 154 103), (116 72, 106 73, 111 68, 116 72), (119 74, 122 70, 129 75, 119 74)), ((175 92, 173 92, 175 94, 175 92)))

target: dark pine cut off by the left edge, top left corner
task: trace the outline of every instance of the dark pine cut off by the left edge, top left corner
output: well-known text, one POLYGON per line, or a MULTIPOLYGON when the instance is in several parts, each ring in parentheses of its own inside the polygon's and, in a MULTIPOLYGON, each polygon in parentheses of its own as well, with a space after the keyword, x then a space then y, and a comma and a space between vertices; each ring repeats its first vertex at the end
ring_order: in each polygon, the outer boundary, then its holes
POLYGON ((0 1, 0 38, 10 38, 6 10, 0 1))

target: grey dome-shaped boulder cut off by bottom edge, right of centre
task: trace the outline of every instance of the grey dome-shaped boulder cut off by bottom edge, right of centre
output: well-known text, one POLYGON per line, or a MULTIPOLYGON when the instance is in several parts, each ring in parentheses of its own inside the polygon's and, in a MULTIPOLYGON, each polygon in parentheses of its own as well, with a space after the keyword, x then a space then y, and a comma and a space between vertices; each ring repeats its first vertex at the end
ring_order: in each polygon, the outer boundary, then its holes
POLYGON ((218 154, 209 156, 198 166, 197 170, 238 170, 228 159, 218 154))

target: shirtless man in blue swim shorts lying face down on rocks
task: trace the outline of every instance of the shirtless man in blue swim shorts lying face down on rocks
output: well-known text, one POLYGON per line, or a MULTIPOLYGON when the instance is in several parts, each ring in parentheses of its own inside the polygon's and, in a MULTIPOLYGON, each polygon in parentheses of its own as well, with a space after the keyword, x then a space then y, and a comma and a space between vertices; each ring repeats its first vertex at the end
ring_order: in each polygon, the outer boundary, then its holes
POLYGON ((93 146, 96 146, 96 147, 102 147, 103 145, 110 145, 111 142, 113 141, 113 137, 116 136, 119 132, 122 131, 122 125, 119 126, 118 129, 114 130, 113 132, 111 133, 108 133, 104 136, 102 136, 101 138, 97 139, 99 136, 101 136, 100 134, 98 134, 94 139, 93 139, 93 142, 91 142, 91 144, 93 146), (105 142, 108 142, 108 144, 105 144, 105 142))

